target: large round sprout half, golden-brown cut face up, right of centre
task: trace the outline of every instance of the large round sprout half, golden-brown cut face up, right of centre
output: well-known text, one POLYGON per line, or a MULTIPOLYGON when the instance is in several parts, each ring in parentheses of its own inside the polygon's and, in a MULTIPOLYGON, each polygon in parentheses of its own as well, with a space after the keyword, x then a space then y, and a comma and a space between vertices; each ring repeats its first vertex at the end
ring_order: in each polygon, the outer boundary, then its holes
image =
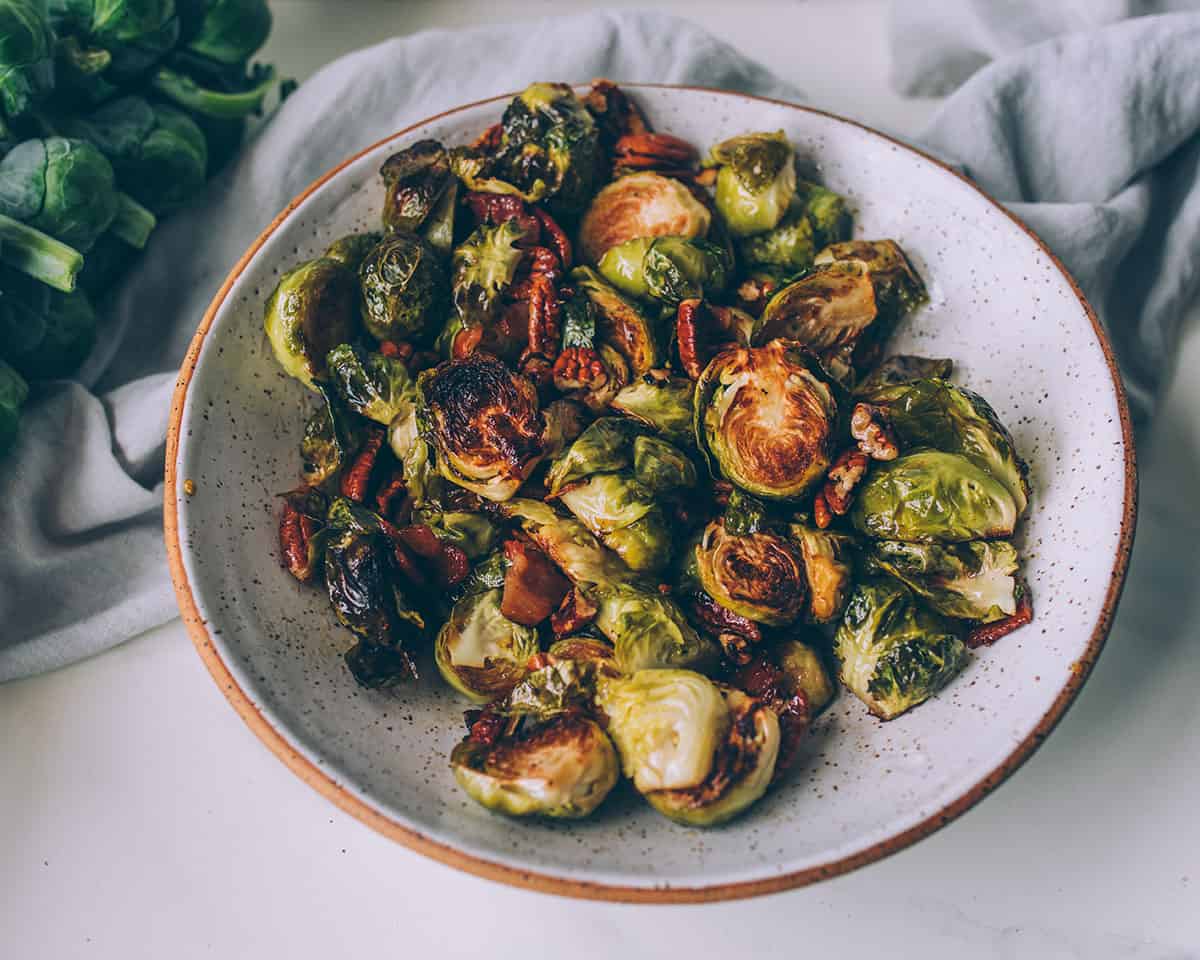
POLYGON ((757 497, 804 496, 833 460, 838 402, 799 344, 728 347, 696 384, 696 439, 714 473, 757 497))

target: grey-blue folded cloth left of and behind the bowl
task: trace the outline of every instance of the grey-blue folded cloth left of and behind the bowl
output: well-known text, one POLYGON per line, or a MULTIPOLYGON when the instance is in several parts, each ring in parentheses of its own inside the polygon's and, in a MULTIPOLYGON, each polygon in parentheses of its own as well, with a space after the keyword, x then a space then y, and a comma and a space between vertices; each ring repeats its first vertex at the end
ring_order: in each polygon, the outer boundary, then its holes
POLYGON ((638 12, 428 31, 313 76, 200 204, 155 232, 79 383, 35 388, 18 446, 0 462, 0 680, 176 614, 162 542, 173 371, 263 226, 326 169, 424 116, 533 80, 593 77, 799 96, 694 24, 638 12))

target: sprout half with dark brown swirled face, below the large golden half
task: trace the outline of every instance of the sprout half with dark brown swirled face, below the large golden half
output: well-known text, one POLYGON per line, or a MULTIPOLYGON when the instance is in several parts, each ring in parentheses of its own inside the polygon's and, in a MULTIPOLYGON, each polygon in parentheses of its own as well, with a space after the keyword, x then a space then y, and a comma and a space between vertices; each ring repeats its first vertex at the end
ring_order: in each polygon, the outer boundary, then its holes
POLYGON ((718 604, 766 624, 791 623, 804 610, 804 568, 792 542, 767 530, 734 536, 714 520, 695 546, 696 574, 718 604))

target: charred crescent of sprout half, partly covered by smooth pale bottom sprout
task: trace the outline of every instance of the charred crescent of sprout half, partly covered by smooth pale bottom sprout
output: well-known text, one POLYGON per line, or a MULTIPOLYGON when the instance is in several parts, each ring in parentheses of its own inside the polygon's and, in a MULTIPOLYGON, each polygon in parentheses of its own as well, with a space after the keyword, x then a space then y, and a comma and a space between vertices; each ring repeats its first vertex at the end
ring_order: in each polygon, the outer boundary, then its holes
POLYGON ((732 688, 721 691, 730 709, 730 731, 716 748, 704 780, 683 790, 646 794, 650 806, 685 827, 715 827, 755 804, 775 775, 779 718, 754 697, 732 688))

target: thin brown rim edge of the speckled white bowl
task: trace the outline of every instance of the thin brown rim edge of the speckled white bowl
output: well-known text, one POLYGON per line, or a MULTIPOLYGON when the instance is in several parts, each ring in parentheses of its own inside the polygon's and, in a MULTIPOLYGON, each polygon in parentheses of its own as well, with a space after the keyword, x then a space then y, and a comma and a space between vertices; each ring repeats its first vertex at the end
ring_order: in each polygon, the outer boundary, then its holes
POLYGON ((1116 358, 1112 353, 1112 346, 1109 343, 1109 338, 1105 335, 1104 329, 1100 326, 1100 323, 1096 317, 1096 312, 1087 302, 1082 290, 1079 289, 1075 280, 1070 276, 1067 268, 1063 266, 1058 258, 1055 257, 1046 245, 1042 242, 1040 238, 1033 233, 1033 230, 1031 230, 1002 204, 992 199, 986 192, 980 190, 974 182, 964 176, 961 173, 952 167, 948 167, 946 163, 934 156, 930 156, 923 150, 918 150, 917 148, 904 143, 902 140, 898 140, 894 137, 881 133, 865 124, 859 124, 854 120, 839 116, 838 114, 833 114, 827 110, 818 110, 812 107, 802 107, 797 103, 788 103, 787 101, 773 100, 770 97, 757 97, 749 94, 737 94, 731 90, 716 90, 704 86, 650 83, 628 84, 626 86, 632 90, 638 88, 694 90, 706 94, 719 94, 755 100, 763 103, 772 103, 779 107, 787 107, 788 109, 803 110, 805 113, 824 116, 841 124, 848 124, 880 137, 901 150, 914 154, 926 163, 932 163, 940 167, 976 191, 984 200, 995 206, 1000 212, 1030 235, 1030 238, 1038 245, 1042 252, 1050 259, 1051 263, 1054 263, 1066 281, 1070 284, 1075 296, 1079 298, 1079 304, 1087 313, 1088 319, 1091 319, 1096 340, 1104 353, 1104 359, 1108 362, 1109 373, 1112 378, 1112 389, 1117 400, 1117 410, 1121 418, 1121 437, 1124 444, 1124 506, 1121 516, 1121 535, 1117 541, 1116 558, 1112 565, 1112 576, 1109 581, 1109 587, 1104 598, 1104 607, 1100 611, 1096 629, 1092 631, 1092 636, 1088 640, 1087 649, 1073 665, 1066 685, 1060 691, 1054 703, 1050 704, 1050 709, 1048 709, 1042 716, 1033 732, 1021 740, 1021 743, 1013 749, 1002 763, 1000 763, 991 773, 984 776, 970 790, 965 791, 958 799, 931 814, 913 827, 894 834, 893 836, 888 836, 866 850, 851 856, 841 857, 804 870, 798 870, 792 874, 784 874, 780 876, 738 883, 715 883, 712 886, 688 887, 630 887, 594 883, 565 876, 540 874, 533 870, 521 870, 506 864, 484 859, 481 857, 474 857, 455 848, 454 846, 431 840, 420 832, 392 820, 385 812, 372 806, 366 800, 355 797, 342 784, 330 776, 326 772, 319 769, 308 757, 301 754, 292 744, 288 737, 272 726, 271 722, 259 712, 253 701, 246 695, 246 691, 242 690, 234 679, 233 673, 222 659, 221 653, 214 646, 212 636, 210 635, 204 619, 200 617, 196 598, 192 594, 192 584, 188 582, 187 572, 184 568, 182 546, 179 535, 179 514, 176 510, 179 478, 176 476, 175 466, 179 461, 181 436, 180 425, 182 422, 184 407, 187 402, 188 386, 191 385, 192 374, 196 371, 196 364, 199 359, 200 349, 204 346, 204 340, 212 326, 212 322, 216 318, 217 312, 224 304, 230 288, 241 276, 242 271, 253 257, 258 253, 259 248, 264 242, 266 242, 266 239, 271 236, 271 234, 274 234, 284 223, 284 221, 287 221, 292 212, 314 191, 324 186, 350 163, 354 163, 360 157, 377 150, 391 140, 404 137, 412 131, 445 116, 488 103, 503 103, 510 100, 514 96, 512 94, 504 94, 502 96, 488 97, 487 100, 480 100, 473 103, 464 103, 460 107, 436 114, 434 116, 420 120, 419 122, 412 124, 342 161, 323 176, 313 181, 302 193, 293 199, 292 203, 289 203, 283 211, 275 217, 270 226, 263 230, 262 234, 259 234, 258 239, 250 245, 250 248, 234 265, 229 276, 221 286, 221 289, 212 299, 211 305, 204 314, 204 319, 200 320, 196 336, 192 338, 191 346, 187 349, 187 355, 184 358, 184 364, 179 372, 179 379, 175 384, 174 397, 172 398, 170 421, 167 428, 167 469, 166 486, 163 491, 163 533, 167 544, 167 562, 170 568, 170 577, 175 587, 175 596, 179 601, 180 613, 187 632, 191 636, 192 642, 196 644, 196 649, 199 653, 200 659, 204 661, 204 665, 209 668, 214 680, 216 680, 217 685, 229 700, 233 708, 241 715, 241 719, 258 736, 258 738, 262 739, 263 743, 266 744, 266 746, 280 760, 282 760, 294 774, 296 774, 296 776, 317 790, 324 797, 332 800, 342 810, 354 817, 358 817, 368 827, 372 827, 392 840, 400 841, 404 846, 415 850, 418 853, 432 857, 433 859, 440 860, 450 866, 466 870, 467 872, 475 874, 476 876, 486 877, 488 880, 509 883, 515 887, 526 887, 541 893, 553 893, 590 900, 616 900, 644 904, 685 904, 733 900, 738 898, 776 893, 793 887, 803 887, 829 877, 835 877, 911 846, 918 840, 929 836, 941 827, 944 827, 952 820, 961 816, 964 812, 979 803, 979 800, 1000 786, 1000 784, 1002 784, 1014 770, 1016 770, 1018 767, 1028 760, 1033 755, 1033 751, 1042 745, 1042 742, 1045 740, 1045 738, 1062 719, 1063 714, 1066 714, 1067 708, 1075 700, 1091 673, 1092 667, 1096 665, 1096 660, 1099 658, 1100 650, 1104 648, 1104 641, 1108 638, 1109 629, 1112 625, 1112 617, 1116 613, 1117 602, 1121 599, 1121 589, 1124 586, 1126 570, 1129 565, 1129 554, 1133 550, 1134 528, 1136 524, 1138 512, 1138 464, 1136 454, 1134 451, 1133 426, 1129 419, 1129 406, 1126 398, 1124 386, 1122 385, 1116 358))

